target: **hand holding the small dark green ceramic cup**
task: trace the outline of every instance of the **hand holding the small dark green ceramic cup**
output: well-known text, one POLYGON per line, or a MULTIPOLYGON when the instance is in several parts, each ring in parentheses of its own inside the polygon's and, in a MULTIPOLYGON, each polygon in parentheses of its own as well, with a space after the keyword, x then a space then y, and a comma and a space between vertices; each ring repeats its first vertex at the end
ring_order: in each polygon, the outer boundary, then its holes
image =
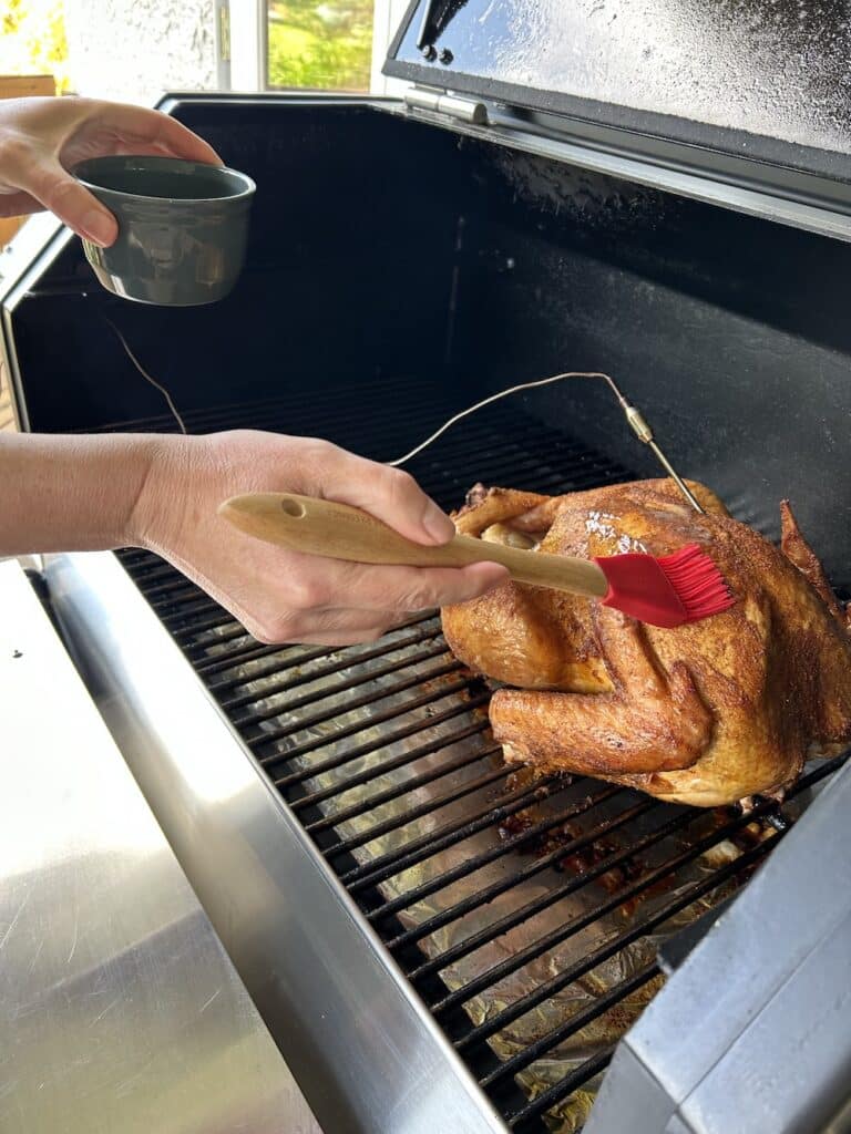
POLYGON ((0 217, 49 209, 93 244, 118 236, 112 213, 69 168, 106 154, 153 154, 221 164, 216 151, 174 118, 95 99, 0 101, 0 217))

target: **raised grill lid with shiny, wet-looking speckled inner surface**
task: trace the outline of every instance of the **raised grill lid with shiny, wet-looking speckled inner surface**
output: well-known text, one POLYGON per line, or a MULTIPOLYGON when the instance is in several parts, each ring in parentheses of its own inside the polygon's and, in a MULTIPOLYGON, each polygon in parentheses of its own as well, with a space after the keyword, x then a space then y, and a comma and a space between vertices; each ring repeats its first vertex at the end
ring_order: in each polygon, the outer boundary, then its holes
POLYGON ((851 211, 846 0, 414 0, 385 73, 851 211))

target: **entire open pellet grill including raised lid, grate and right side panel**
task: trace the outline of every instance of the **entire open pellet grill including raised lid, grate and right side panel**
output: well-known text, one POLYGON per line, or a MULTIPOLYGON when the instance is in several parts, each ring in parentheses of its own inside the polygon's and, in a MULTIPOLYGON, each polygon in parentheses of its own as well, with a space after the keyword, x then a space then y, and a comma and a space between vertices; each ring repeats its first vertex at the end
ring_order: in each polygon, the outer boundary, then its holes
MULTIPOLYGON (((850 41, 840 3, 420 2, 404 100, 174 95, 258 183, 245 274, 133 306, 45 230, 7 266, 20 426, 176 429, 107 320, 191 432, 385 460, 605 370, 739 518, 776 536, 790 497, 846 594, 850 41)), ((410 467, 447 508, 657 473, 581 382, 410 467)), ((850 1128, 842 755, 751 814, 534 779, 436 615, 275 646, 148 552, 43 582, 327 1134, 850 1128)))

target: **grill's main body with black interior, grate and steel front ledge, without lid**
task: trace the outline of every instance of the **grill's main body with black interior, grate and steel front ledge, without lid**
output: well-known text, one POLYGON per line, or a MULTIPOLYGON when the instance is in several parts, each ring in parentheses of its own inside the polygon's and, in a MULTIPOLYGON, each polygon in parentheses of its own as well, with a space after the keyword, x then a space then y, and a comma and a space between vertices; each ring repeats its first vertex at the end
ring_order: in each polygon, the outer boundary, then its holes
MULTIPOLYGON (((848 244, 663 192, 649 167, 601 174, 393 104, 169 105, 258 181, 245 276, 214 308, 135 308, 53 236, 3 302, 25 428, 175 428, 104 315, 191 431, 319 434, 378 459, 503 386, 609 370, 740 518, 776 534, 792 497, 848 585, 848 244)), ((477 480, 557 492, 657 473, 582 383, 489 409, 411 471, 447 508, 477 480)), ((792 845, 839 763, 753 821, 529 781, 502 767, 487 689, 435 617, 373 648, 278 649, 151 556, 61 557, 48 582, 328 1131, 578 1129, 662 984, 659 941, 792 845)))

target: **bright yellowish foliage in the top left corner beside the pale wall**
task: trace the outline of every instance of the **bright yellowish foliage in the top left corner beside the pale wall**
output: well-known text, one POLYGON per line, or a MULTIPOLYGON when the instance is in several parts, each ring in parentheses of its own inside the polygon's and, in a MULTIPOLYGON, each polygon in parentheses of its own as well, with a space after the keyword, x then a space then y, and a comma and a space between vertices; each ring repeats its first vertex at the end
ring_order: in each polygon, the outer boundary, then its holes
POLYGON ((0 75, 52 75, 68 90, 64 0, 0 0, 0 75))

